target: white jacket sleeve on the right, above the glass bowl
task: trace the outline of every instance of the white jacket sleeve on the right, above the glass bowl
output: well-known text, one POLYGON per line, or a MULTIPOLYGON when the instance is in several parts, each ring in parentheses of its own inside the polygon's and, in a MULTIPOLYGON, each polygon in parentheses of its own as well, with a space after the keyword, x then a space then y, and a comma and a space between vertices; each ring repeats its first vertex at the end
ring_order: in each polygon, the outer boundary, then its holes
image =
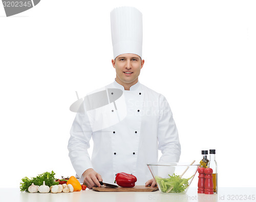
POLYGON ((159 163, 179 162, 181 146, 173 113, 164 96, 159 97, 158 149, 162 156, 159 163))

